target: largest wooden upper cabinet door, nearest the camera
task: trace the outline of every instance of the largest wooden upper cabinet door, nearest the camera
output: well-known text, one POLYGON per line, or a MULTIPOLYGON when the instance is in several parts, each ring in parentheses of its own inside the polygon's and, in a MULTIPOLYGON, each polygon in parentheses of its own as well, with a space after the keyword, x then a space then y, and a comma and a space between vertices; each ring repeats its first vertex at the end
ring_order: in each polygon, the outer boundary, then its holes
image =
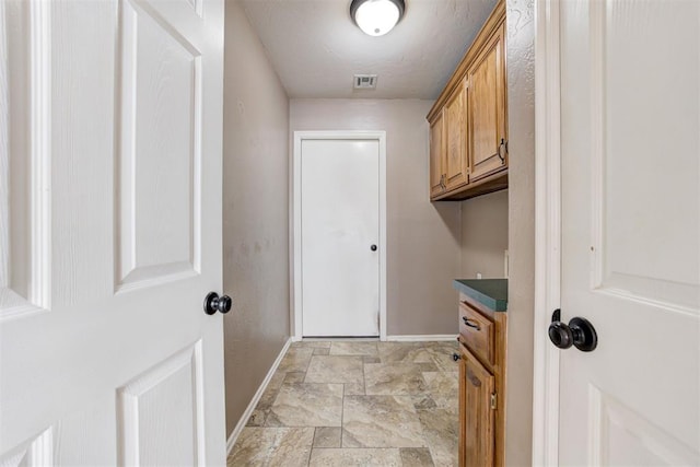
POLYGON ((477 180, 508 166, 504 27, 469 68, 469 165, 477 180))

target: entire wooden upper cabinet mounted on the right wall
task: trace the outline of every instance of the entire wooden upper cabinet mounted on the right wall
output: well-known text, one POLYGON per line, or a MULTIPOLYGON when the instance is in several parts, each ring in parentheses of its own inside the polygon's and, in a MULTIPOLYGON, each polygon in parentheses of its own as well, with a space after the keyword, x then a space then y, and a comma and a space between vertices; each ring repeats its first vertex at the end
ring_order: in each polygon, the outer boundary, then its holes
POLYGON ((499 0, 428 114, 430 199, 508 188, 505 1, 499 0))

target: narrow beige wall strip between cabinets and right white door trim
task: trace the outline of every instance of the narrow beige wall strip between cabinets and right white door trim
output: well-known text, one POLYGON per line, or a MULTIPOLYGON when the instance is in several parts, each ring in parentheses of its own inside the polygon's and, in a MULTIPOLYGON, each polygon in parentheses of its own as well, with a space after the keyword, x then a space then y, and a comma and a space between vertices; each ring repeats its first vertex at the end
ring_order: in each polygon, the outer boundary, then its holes
POLYGON ((506 0, 509 316, 506 465, 529 465, 535 306, 535 23, 533 0, 506 0))

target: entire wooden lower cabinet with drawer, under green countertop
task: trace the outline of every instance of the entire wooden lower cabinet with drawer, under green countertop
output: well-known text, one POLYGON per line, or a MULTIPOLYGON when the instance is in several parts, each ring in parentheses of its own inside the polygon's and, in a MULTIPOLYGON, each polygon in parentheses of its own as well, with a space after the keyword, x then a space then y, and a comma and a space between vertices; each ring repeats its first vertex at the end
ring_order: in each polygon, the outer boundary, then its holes
POLYGON ((505 315, 460 295, 460 467, 504 465, 505 315))

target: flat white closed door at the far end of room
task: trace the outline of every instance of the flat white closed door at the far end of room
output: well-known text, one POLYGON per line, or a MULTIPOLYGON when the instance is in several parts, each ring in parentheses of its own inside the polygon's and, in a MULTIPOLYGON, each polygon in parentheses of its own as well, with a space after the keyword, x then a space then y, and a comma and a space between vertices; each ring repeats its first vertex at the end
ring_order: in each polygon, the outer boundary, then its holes
POLYGON ((301 141, 304 337, 380 335, 380 142, 301 141))

